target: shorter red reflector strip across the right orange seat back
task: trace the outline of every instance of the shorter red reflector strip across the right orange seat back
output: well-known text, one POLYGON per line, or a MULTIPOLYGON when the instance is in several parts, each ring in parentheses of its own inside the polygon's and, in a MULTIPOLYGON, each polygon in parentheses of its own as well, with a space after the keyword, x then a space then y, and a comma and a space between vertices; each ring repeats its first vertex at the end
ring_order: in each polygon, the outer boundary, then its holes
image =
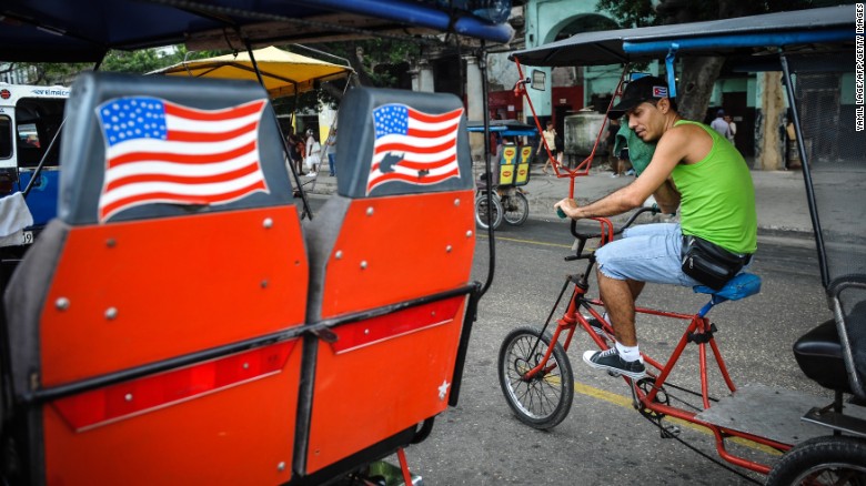
POLYGON ((338 354, 345 353, 380 341, 449 323, 456 316, 464 298, 461 295, 334 327, 336 341, 331 344, 331 347, 338 354))

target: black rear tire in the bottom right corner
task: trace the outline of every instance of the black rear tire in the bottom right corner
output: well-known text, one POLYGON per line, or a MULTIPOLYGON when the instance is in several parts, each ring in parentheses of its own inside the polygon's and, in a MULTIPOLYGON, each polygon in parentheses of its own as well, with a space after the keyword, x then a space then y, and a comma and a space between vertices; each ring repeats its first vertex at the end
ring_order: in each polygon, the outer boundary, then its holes
POLYGON ((806 441, 773 466, 767 485, 866 485, 866 441, 846 436, 806 441))

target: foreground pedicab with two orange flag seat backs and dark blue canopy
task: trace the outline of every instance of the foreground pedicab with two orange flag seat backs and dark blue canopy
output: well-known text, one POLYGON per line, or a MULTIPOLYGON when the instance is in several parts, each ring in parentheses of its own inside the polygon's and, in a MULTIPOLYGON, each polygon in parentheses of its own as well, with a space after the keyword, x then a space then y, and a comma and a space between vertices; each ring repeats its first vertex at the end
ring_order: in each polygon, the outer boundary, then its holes
MULTIPOLYGON (((7 2, 2 59, 513 32, 439 2, 61 3, 7 2)), ((416 482, 403 450, 457 403, 482 295, 460 99, 351 90, 303 224, 255 83, 84 73, 66 111, 57 217, 0 266, 3 483, 364 484, 394 453, 416 482)))

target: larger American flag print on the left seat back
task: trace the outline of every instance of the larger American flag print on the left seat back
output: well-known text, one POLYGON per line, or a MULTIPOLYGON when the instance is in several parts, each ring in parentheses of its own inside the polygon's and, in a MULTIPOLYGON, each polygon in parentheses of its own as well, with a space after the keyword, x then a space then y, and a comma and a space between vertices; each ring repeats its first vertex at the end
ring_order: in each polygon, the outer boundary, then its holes
POLYGON ((258 146, 265 102, 200 110, 128 97, 97 107, 105 139, 99 221, 142 204, 216 205, 269 192, 258 146))

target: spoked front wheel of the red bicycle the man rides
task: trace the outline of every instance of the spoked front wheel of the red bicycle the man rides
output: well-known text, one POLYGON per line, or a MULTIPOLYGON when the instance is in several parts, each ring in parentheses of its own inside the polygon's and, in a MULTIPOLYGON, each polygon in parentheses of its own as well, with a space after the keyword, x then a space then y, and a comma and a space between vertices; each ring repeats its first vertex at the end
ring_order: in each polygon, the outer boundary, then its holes
POLYGON ((546 366, 535 376, 525 374, 541 363, 551 336, 533 327, 512 331, 500 348, 500 386, 508 406, 524 424, 546 431, 555 427, 572 409, 574 375, 560 343, 546 366))

